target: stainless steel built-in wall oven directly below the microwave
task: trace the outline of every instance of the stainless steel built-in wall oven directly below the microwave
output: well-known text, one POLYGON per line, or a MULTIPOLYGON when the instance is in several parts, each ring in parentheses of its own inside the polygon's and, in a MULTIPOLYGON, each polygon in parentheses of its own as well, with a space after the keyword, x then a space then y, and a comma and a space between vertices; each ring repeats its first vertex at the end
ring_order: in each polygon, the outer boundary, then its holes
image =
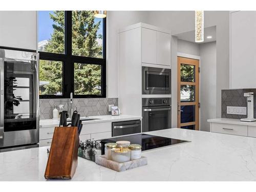
POLYGON ((170 103, 170 98, 142 98, 142 132, 171 128, 170 103))

